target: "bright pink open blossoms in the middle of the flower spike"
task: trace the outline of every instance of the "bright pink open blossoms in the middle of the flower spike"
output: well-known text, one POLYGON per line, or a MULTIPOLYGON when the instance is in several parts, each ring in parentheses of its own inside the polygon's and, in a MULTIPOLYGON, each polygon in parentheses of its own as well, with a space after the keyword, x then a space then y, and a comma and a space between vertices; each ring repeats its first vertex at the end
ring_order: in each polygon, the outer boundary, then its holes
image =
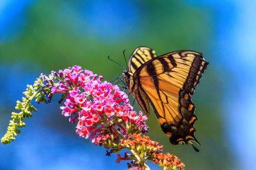
POLYGON ((60 107, 62 115, 70 117, 72 123, 78 120, 76 132, 80 137, 87 139, 91 136, 95 144, 111 134, 118 136, 118 132, 125 137, 127 122, 140 132, 147 132, 147 117, 141 111, 139 115, 132 111, 127 94, 120 91, 117 85, 102 82, 102 76, 82 70, 79 66, 54 74, 63 81, 54 84, 51 92, 65 95, 65 106, 60 107))

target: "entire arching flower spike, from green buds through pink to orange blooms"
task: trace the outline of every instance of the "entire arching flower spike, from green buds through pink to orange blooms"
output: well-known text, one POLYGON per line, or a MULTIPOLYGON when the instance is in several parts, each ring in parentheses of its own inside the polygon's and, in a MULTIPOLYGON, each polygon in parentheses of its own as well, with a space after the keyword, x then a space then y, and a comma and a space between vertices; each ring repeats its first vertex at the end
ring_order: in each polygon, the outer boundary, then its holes
POLYGON ((32 117, 31 111, 36 111, 31 104, 33 98, 37 103, 50 103, 54 94, 60 93, 61 114, 69 117, 69 122, 77 124, 76 133, 81 138, 90 138, 95 145, 104 146, 107 155, 124 148, 131 151, 125 153, 125 157, 118 155, 116 162, 131 160, 128 166, 134 169, 149 169, 147 160, 166 168, 183 167, 182 163, 177 164, 175 157, 163 155, 163 149, 156 142, 141 137, 148 131, 147 117, 141 111, 133 111, 127 94, 117 85, 102 81, 102 78, 80 66, 68 67, 58 73, 52 71, 49 76, 41 74, 33 86, 28 85, 22 102, 17 101, 16 109, 21 111, 12 113, 13 120, 10 120, 1 142, 13 141, 20 133, 18 127, 25 126, 24 118, 32 117))

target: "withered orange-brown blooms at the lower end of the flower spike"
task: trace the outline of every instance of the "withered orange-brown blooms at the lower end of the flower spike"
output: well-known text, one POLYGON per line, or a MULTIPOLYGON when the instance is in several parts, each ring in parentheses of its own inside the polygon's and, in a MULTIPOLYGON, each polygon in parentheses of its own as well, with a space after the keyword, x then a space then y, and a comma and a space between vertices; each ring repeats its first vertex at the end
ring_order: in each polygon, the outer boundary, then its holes
POLYGON ((128 167, 132 167, 131 169, 145 168, 147 167, 146 162, 153 160, 163 169, 184 170, 185 165, 175 155, 162 153, 163 146, 159 146, 156 141, 152 141, 148 136, 141 136, 141 133, 129 134, 128 138, 122 139, 119 145, 121 148, 131 150, 134 154, 125 153, 124 157, 118 154, 116 162, 131 160, 131 163, 128 163, 128 167))

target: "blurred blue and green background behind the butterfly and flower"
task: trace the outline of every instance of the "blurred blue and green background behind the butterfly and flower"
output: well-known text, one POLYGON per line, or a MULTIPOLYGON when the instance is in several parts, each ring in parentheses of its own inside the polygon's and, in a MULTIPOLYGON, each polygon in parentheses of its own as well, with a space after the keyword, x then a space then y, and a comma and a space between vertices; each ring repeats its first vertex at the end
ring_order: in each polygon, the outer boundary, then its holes
MULTIPOLYGON (((186 169, 253 169, 256 160, 256 1, 0 0, 0 134, 16 101, 40 73, 79 65, 114 80, 137 46, 158 55, 204 54, 209 67, 198 85, 196 138, 173 146, 154 113, 148 135, 179 157, 186 169)), ((60 96, 35 104, 33 118, 9 145, 0 145, 0 169, 125 169, 116 155, 79 138, 61 115, 60 96)), ((138 105, 134 105, 139 111, 138 105)), ((150 164, 152 169, 158 166, 150 164)))

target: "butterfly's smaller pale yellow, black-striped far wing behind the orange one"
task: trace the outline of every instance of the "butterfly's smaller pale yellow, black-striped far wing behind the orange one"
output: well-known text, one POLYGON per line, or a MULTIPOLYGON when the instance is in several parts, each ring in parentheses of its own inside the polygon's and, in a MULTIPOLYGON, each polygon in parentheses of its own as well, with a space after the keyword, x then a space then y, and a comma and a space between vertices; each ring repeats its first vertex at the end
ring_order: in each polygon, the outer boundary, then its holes
POLYGON ((136 50, 134 50, 129 58, 128 71, 133 74, 138 67, 154 57, 157 57, 154 50, 145 46, 139 46, 136 48, 136 50))

